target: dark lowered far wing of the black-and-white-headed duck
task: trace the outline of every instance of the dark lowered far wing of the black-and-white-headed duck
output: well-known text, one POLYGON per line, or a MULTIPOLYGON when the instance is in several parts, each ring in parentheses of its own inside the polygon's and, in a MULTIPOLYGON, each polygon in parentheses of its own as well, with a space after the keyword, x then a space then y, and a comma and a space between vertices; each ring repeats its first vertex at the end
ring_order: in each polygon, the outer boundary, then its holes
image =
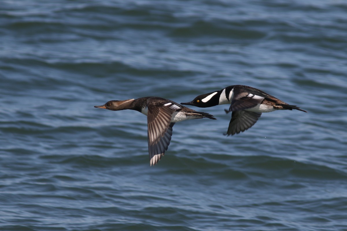
POLYGON ((232 111, 227 135, 234 135, 252 127, 261 116, 259 112, 249 112, 246 110, 232 111))

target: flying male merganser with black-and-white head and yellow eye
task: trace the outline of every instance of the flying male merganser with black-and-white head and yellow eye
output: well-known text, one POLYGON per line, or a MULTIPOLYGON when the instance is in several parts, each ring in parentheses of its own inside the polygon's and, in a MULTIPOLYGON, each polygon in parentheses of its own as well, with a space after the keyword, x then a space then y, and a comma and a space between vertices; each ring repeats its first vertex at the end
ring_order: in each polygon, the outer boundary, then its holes
POLYGON ((302 110, 294 105, 289 105, 278 98, 271 96, 259 89, 244 85, 233 85, 223 88, 220 91, 213 91, 195 97, 184 105, 194 105, 196 107, 212 107, 220 104, 231 104, 231 120, 226 135, 234 135, 252 127, 263 112, 273 112, 275 110, 302 110))

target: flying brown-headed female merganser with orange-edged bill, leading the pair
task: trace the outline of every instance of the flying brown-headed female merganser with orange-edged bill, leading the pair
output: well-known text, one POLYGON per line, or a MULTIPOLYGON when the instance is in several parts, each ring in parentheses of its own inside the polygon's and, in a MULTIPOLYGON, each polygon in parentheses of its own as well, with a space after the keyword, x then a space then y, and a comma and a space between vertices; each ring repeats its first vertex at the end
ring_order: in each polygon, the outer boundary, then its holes
POLYGON ((172 126, 176 122, 205 117, 216 119, 208 113, 196 112, 174 101, 159 97, 111 100, 104 105, 94 107, 113 111, 131 109, 147 116, 148 151, 151 166, 158 163, 160 158, 164 156, 165 151, 168 150, 172 136, 172 126))

